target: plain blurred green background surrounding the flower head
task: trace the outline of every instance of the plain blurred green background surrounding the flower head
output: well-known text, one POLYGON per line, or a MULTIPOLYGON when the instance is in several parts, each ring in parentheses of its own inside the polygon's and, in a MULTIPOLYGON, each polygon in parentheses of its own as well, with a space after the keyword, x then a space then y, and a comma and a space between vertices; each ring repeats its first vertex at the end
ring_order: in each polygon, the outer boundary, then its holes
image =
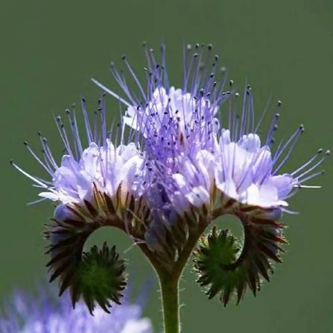
MULTIPOLYGON (((82 95, 95 108, 99 89, 90 78, 114 87, 111 60, 120 63, 126 53, 142 73, 142 41, 158 49, 165 40, 169 78, 179 86, 183 42, 212 43, 236 87, 242 89, 247 77, 257 114, 271 92, 273 100, 283 101, 278 138, 304 124, 305 134, 283 169, 287 172, 318 148, 332 148, 332 22, 332 2, 324 0, 1 1, 1 299, 10 297, 14 286, 33 288, 43 277, 43 223, 53 212, 49 202, 26 206, 37 190, 9 160, 44 175, 22 142, 38 148, 40 130, 60 154, 53 113, 63 114, 82 95)), ((110 121, 118 117, 118 103, 111 98, 108 110, 110 121)), ((333 331, 332 161, 324 167, 326 174, 311 181, 322 189, 301 190, 290 199, 291 209, 301 214, 284 215, 287 254, 256 298, 247 294, 238 307, 223 308, 206 299, 187 267, 181 281, 182 332, 333 331)), ((107 229, 96 232, 89 244, 104 240, 122 251, 130 246, 126 236, 107 229)), ((149 265, 137 248, 123 256, 130 259, 139 287, 152 274, 149 265)), ((160 332, 157 289, 155 283, 145 315, 160 332)))

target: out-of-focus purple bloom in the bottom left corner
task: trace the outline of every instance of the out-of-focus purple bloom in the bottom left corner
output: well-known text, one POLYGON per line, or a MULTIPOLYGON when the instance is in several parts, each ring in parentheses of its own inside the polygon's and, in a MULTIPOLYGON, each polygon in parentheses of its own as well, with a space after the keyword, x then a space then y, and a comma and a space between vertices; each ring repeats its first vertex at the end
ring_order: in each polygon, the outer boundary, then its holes
POLYGON ((91 316, 83 302, 72 309, 69 295, 60 299, 42 291, 37 300, 16 293, 5 307, 6 316, 0 318, 2 333, 150 333, 152 325, 142 318, 140 302, 115 304, 111 314, 97 307, 91 316))

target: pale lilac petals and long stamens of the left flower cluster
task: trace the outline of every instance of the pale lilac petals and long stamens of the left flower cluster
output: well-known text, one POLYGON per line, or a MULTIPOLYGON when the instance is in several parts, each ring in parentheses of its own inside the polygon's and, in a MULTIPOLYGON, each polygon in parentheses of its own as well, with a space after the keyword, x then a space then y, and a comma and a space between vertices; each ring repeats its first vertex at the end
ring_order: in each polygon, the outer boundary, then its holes
POLYGON ((101 122, 101 129, 98 131, 97 113, 95 114, 94 125, 91 126, 86 111, 85 99, 82 98, 81 102, 86 127, 86 149, 83 148, 82 135, 78 131, 75 110, 71 115, 69 109, 66 110, 66 115, 71 133, 67 133, 61 117, 56 118, 56 124, 66 152, 61 159, 60 166, 57 165, 46 138, 42 137, 40 133, 43 160, 33 152, 27 142, 24 143, 33 157, 52 177, 51 182, 33 177, 16 164, 13 163, 13 165, 32 179, 37 187, 47 190, 39 193, 41 197, 62 203, 91 201, 94 196, 94 184, 99 192, 107 193, 117 206, 117 199, 127 195, 126 190, 120 188, 120 184, 128 179, 129 173, 135 171, 133 168, 140 168, 143 159, 134 142, 128 145, 120 144, 118 147, 115 147, 111 142, 111 135, 107 133, 105 101, 103 98, 98 102, 101 122), (68 139, 69 134, 73 137, 72 144, 68 139), (117 197, 117 191, 119 191, 119 197, 117 197))

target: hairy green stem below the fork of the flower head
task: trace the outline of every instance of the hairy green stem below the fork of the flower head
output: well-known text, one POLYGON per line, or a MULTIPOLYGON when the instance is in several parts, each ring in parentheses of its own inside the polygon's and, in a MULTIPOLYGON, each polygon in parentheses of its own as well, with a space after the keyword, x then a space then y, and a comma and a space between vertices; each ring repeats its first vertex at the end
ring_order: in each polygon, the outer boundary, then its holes
POLYGON ((164 333, 179 333, 178 278, 159 275, 163 306, 164 333))

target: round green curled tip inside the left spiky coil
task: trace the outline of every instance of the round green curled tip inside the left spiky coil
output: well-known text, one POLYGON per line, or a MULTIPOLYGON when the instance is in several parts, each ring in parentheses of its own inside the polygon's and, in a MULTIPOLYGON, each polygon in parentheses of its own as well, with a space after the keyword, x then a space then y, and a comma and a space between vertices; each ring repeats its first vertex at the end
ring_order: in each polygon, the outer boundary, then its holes
POLYGON ((90 252, 83 253, 82 261, 74 271, 70 286, 73 307, 82 295, 91 314, 95 302, 109 313, 110 301, 121 304, 126 285, 125 261, 119 259, 116 246, 109 249, 104 242, 99 250, 94 245, 90 252))

